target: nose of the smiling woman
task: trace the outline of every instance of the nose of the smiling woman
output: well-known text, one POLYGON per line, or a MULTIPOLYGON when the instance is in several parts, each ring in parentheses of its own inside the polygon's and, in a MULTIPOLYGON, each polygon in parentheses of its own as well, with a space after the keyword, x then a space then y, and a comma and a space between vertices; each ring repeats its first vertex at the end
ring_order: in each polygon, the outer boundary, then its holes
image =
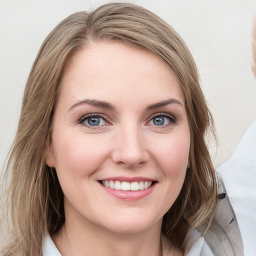
POLYGON ((112 159, 116 164, 134 168, 148 161, 143 131, 134 125, 124 127, 115 136, 112 159))

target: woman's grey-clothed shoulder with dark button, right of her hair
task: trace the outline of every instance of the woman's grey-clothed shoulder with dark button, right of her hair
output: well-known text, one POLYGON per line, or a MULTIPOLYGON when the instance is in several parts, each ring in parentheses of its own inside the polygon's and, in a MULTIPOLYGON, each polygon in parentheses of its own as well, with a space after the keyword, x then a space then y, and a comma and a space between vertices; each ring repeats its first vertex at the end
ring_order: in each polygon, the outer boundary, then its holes
POLYGON ((229 254, 243 256, 243 243, 237 219, 219 173, 217 173, 217 184, 219 201, 212 222, 207 230, 198 227, 200 231, 195 229, 189 231, 185 256, 229 254))

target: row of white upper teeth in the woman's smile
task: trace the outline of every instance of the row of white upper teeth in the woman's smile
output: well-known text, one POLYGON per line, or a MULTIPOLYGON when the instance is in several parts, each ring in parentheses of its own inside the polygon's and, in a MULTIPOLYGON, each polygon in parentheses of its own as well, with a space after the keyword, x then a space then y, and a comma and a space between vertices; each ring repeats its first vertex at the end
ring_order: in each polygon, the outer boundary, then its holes
POLYGON ((135 181, 135 182, 127 182, 127 181, 119 181, 119 180, 102 180, 102 185, 123 191, 137 191, 143 190, 151 186, 152 181, 135 181))

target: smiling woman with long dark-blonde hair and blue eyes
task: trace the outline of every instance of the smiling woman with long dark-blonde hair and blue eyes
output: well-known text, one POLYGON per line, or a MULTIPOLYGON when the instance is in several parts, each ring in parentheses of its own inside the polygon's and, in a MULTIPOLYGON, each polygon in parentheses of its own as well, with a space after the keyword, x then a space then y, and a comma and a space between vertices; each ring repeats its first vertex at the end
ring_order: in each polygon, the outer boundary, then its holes
POLYGON ((124 3, 70 15, 26 83, 3 255, 214 253, 200 238, 217 206, 212 126, 193 58, 163 20, 124 3))

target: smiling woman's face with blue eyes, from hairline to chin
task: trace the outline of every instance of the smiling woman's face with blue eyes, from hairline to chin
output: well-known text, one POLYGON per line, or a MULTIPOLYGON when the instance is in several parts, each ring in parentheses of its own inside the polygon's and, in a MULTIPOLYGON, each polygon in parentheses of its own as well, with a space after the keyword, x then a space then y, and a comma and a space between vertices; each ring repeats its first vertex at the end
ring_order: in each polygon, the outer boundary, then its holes
POLYGON ((160 226, 182 187, 189 145, 180 86, 152 53, 91 42, 69 60, 46 157, 66 223, 114 232, 160 226))

